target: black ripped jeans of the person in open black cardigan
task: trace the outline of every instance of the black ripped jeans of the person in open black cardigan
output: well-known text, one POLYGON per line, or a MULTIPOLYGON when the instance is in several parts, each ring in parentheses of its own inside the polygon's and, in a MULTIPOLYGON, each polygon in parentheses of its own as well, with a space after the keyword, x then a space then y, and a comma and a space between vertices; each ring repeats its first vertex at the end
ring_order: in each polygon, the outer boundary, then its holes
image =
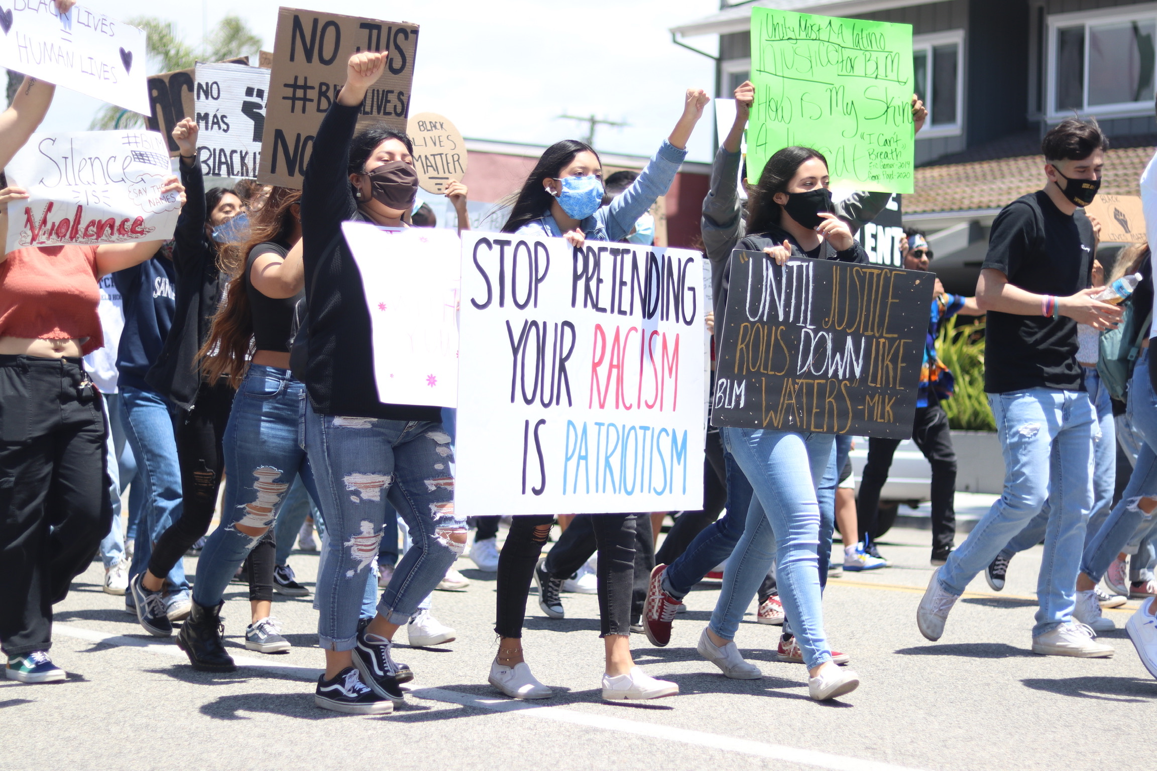
POLYGON ((234 393, 224 380, 214 385, 202 383, 192 409, 177 418, 177 461, 184 503, 180 519, 153 547, 148 571, 154 576, 168 576, 189 547, 209 532, 224 469, 221 437, 229 422, 234 393))

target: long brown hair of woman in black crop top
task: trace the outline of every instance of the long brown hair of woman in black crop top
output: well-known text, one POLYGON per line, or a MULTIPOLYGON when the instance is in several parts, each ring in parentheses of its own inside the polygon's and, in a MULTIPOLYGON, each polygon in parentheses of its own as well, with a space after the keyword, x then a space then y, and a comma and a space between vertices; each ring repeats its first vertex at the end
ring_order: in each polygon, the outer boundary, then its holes
POLYGON ((231 244, 221 250, 227 255, 221 261, 228 262, 230 267, 226 302, 218 307, 208 338, 197 351, 201 371, 209 383, 216 383, 228 372, 229 385, 241 387, 253 340, 253 309, 245 290, 246 258, 258 244, 288 243, 294 225, 289 207, 300 199, 300 190, 274 187, 265 203, 250 214, 249 238, 242 244, 231 244))

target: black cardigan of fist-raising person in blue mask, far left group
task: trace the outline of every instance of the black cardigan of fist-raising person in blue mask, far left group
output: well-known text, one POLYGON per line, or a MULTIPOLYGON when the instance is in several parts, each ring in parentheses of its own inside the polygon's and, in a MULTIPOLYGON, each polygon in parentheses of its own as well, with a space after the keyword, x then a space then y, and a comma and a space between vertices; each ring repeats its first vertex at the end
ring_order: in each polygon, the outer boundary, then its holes
POLYGON ((174 235, 172 262, 177 269, 177 312, 161 355, 145 376, 146 383, 182 409, 192 409, 201 373, 197 351, 208 338, 213 316, 221 301, 224 277, 216 264, 216 250, 205 235, 208 212, 201 165, 180 166, 185 206, 174 235))

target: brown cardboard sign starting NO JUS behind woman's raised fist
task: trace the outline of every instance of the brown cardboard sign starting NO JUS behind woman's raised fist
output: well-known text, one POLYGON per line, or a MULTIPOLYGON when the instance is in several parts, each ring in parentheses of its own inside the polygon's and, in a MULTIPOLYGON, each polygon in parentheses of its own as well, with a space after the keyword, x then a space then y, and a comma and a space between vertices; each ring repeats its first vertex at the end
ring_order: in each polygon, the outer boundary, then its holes
POLYGON ((366 92, 358 125, 406 131, 418 24, 281 8, 273 45, 270 101, 258 181, 301 187, 314 135, 346 82, 359 51, 389 51, 382 76, 366 92))

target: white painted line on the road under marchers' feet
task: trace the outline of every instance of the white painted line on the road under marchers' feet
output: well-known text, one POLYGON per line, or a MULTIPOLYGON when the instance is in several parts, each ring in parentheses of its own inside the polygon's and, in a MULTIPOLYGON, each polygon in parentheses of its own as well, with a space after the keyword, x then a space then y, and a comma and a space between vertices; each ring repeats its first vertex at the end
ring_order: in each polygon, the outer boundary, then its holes
MULTIPOLYGON (((130 637, 126 635, 109 635, 91 629, 75 627, 73 624, 53 624, 52 631, 57 635, 88 640, 90 643, 139 647, 148 651, 149 653, 157 653, 182 660, 185 659, 184 652, 171 642, 171 638, 149 639, 143 637, 130 637)), ((233 654, 230 653, 230 655, 233 654)), ((299 680, 316 681, 322 674, 322 669, 315 669, 312 667, 287 667, 245 655, 233 655, 233 660, 242 667, 258 667, 266 672, 299 680)), ((519 702, 506 698, 486 698, 473 696, 471 694, 445 690, 443 688, 417 688, 411 690, 410 695, 415 698, 460 704, 462 706, 469 706, 478 710, 506 712, 517 714, 518 717, 553 720, 555 722, 568 722, 576 726, 587 726, 589 728, 600 728, 603 731, 617 731, 619 733, 634 734, 636 736, 648 736, 650 739, 662 739, 681 744, 694 744, 697 747, 727 750, 729 753, 740 753, 743 755, 753 755, 757 757, 786 761, 788 763, 798 763, 799 765, 810 765, 818 769, 834 769, 837 771, 915 771, 909 766, 894 765, 892 763, 864 761, 856 757, 832 755, 831 753, 818 753, 816 750, 798 749, 795 747, 786 747, 783 744, 767 744, 746 739, 737 739, 735 736, 722 736, 720 734, 709 734, 702 731, 687 731, 684 728, 661 726, 638 720, 625 720, 622 718, 592 714, 560 706, 545 706, 531 702, 519 702)))

